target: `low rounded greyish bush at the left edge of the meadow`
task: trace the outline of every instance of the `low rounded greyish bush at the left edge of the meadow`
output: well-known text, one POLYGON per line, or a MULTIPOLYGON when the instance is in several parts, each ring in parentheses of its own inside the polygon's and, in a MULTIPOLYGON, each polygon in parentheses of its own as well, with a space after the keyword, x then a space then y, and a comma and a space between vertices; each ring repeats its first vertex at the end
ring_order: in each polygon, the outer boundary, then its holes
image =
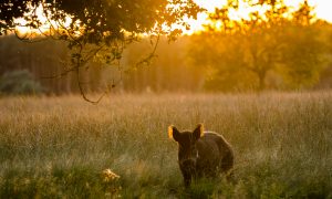
POLYGON ((7 72, 0 77, 0 93, 29 95, 43 92, 45 92, 45 88, 27 70, 7 72))

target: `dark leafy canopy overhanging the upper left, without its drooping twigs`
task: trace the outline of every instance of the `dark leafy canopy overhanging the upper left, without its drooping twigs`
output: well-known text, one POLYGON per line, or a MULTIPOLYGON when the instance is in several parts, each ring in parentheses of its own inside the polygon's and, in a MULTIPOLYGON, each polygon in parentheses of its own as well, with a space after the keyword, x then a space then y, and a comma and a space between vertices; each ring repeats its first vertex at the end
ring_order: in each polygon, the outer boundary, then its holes
POLYGON ((155 30, 162 24, 164 33, 170 33, 172 24, 185 24, 184 15, 195 18, 201 11, 191 0, 4 0, 0 8, 1 33, 20 25, 38 29, 45 23, 50 31, 45 34, 68 40, 71 46, 86 43, 114 46, 112 42, 117 40, 129 42, 138 33, 162 31, 155 30), (25 21, 18 22, 20 18, 25 21))

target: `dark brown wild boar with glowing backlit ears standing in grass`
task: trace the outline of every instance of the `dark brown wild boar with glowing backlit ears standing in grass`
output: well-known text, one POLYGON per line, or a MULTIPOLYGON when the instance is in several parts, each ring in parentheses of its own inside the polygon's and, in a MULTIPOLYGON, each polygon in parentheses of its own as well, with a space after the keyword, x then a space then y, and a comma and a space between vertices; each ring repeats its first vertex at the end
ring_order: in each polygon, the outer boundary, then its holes
POLYGON ((216 177, 232 168, 234 153, 221 135, 204 132, 200 124, 194 132, 181 133, 170 126, 168 133, 178 143, 178 164, 186 187, 191 178, 216 177))

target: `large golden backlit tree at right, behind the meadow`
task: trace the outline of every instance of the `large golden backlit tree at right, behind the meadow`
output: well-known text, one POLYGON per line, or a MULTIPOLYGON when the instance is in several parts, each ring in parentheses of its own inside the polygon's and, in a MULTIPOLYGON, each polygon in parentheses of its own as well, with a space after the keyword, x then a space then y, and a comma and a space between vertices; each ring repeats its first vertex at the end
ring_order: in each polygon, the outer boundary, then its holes
POLYGON ((282 78, 282 85, 269 86, 304 87, 317 82, 323 42, 313 36, 318 35, 313 8, 305 0, 294 11, 282 0, 246 1, 240 6, 243 4, 252 8, 248 18, 232 19, 229 13, 237 11, 239 4, 229 3, 216 9, 206 32, 193 40, 193 60, 212 72, 207 87, 262 91, 271 74, 282 78), (208 44, 201 42, 207 39, 208 44), (210 50, 208 55, 206 49, 210 50))

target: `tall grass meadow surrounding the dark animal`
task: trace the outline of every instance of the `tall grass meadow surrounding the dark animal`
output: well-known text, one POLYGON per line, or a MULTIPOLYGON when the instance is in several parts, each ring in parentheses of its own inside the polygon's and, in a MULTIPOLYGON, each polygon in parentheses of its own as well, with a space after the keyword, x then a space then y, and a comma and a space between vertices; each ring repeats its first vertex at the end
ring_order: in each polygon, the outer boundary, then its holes
POLYGON ((332 92, 0 98, 0 198, 332 198, 331 166, 332 92), (232 145, 231 181, 184 188, 167 127, 197 123, 232 145))

